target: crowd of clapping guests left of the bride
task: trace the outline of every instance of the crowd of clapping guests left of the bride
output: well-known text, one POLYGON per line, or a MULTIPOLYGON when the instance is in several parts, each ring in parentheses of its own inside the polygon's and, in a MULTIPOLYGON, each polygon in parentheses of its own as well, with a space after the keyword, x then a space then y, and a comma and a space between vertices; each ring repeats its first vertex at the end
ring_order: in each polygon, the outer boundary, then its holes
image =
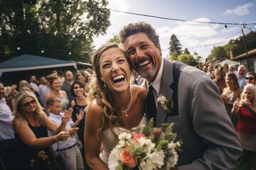
POLYGON ((87 69, 73 79, 70 70, 53 70, 40 81, 31 75, 11 86, 0 82, 0 169, 86 169, 85 107, 92 74, 87 69))

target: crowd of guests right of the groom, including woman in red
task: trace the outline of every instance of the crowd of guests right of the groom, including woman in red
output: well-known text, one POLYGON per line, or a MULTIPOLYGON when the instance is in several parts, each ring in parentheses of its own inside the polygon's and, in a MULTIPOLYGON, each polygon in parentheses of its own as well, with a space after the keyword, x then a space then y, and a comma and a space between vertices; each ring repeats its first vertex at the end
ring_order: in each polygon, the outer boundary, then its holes
POLYGON ((242 149, 244 149, 239 165, 245 162, 248 153, 252 155, 252 169, 256 169, 256 73, 247 72, 244 65, 238 66, 223 63, 220 67, 212 69, 203 67, 217 84, 225 109, 230 116, 242 149))

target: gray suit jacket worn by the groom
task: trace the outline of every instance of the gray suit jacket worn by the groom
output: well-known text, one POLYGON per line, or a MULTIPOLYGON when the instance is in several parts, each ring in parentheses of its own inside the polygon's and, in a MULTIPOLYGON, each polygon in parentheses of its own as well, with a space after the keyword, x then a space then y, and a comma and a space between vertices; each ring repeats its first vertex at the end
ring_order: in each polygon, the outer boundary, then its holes
MULTIPOLYGON (((173 63, 164 59, 159 94, 171 99, 173 82, 173 63)), ((160 125, 164 123, 166 111, 157 104, 156 125, 160 125)), ((166 122, 174 122, 176 140, 183 141, 183 152, 178 152, 179 170, 227 170, 237 166, 242 153, 240 141, 218 87, 201 70, 187 65, 181 70, 178 115, 169 116, 166 122)))

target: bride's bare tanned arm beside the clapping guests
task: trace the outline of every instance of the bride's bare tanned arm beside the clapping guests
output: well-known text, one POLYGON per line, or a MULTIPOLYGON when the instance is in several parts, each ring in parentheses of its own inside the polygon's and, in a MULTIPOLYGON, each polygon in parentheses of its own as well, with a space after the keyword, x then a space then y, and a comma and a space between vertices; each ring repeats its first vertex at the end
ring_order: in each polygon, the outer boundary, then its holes
POLYGON ((102 106, 94 100, 88 107, 85 118, 85 157, 91 169, 108 169, 100 159, 101 134, 97 137, 97 130, 102 125, 102 106))

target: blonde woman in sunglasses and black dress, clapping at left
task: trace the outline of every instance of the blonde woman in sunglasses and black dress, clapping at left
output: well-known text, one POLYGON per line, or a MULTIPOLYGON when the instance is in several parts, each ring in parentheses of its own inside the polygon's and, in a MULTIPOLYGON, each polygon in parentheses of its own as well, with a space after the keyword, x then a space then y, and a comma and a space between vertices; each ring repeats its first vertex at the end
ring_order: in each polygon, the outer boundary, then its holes
POLYGON ((14 101, 14 134, 18 166, 20 169, 56 169, 50 145, 67 140, 65 125, 71 118, 72 108, 57 125, 43 112, 38 99, 28 92, 19 93, 14 101), (47 129, 56 135, 48 137, 47 129))

